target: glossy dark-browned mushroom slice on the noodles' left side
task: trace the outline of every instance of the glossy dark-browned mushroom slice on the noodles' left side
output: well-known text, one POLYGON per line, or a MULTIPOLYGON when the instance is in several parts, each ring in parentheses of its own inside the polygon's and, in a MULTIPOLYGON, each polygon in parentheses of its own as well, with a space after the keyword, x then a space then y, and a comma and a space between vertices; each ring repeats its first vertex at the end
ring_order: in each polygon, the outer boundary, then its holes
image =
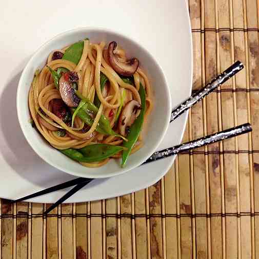
POLYGON ((78 81, 78 76, 73 71, 64 73, 59 79, 59 92, 68 107, 77 107, 80 102, 75 90, 72 88, 72 83, 76 81, 78 81))

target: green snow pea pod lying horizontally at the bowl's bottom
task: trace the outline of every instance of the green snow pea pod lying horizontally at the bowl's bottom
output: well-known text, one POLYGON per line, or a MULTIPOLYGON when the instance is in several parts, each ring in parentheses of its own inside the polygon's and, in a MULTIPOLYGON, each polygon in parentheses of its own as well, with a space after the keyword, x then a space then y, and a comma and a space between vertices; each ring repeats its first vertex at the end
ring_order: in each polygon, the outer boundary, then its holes
POLYGON ((123 149, 123 147, 109 144, 93 144, 78 150, 69 148, 59 151, 70 157, 72 160, 91 163, 105 160, 123 149))

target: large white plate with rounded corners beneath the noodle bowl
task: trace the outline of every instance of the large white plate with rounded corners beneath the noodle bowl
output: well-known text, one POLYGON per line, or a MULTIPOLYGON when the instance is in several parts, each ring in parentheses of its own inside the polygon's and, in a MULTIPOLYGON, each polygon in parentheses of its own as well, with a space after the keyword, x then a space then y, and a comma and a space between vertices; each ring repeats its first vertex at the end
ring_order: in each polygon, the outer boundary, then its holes
MULTIPOLYGON (((75 5, 67 1, 61 6, 53 6, 49 0, 30 3, 9 1, 3 7, 0 197, 15 199, 74 178, 49 166, 33 152, 23 136, 16 114, 15 96, 22 69, 34 51, 56 34, 85 26, 106 27, 122 33, 127 31, 164 69, 171 86, 173 106, 190 95, 192 42, 184 1, 164 0, 163 4, 158 0, 87 3, 77 1, 75 5)), ((158 150, 181 142, 186 119, 187 114, 184 114, 171 123, 158 150)), ((67 202, 99 200, 146 188, 160 180, 173 161, 174 157, 170 157, 122 175, 94 180, 67 202)), ((67 190, 30 201, 52 203, 65 192, 67 190)))

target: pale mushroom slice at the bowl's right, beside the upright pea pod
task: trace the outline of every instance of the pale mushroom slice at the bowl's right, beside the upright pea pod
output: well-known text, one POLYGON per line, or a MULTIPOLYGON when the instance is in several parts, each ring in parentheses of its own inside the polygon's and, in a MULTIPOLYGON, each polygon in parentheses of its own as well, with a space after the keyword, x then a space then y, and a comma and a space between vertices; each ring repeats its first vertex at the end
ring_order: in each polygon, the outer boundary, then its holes
POLYGON ((119 116, 119 133, 126 136, 126 134, 129 131, 129 127, 137 118, 137 111, 140 110, 140 108, 141 105, 135 100, 132 100, 125 105, 125 107, 122 110, 121 116, 119 116))

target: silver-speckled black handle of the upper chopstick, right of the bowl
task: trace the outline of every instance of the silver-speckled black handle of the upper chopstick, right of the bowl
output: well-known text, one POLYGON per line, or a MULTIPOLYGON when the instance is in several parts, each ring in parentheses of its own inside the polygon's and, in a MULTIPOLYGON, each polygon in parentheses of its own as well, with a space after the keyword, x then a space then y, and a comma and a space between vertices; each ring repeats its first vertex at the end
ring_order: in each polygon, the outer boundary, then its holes
POLYGON ((178 105, 175 109, 172 110, 170 122, 174 121, 178 116, 184 113, 186 110, 190 109, 194 104, 212 92, 218 86, 221 86, 225 83, 230 77, 235 75, 237 72, 241 71, 244 68, 244 65, 237 61, 216 78, 214 78, 209 84, 207 84, 204 88, 194 93, 188 99, 186 99, 183 103, 178 105))

